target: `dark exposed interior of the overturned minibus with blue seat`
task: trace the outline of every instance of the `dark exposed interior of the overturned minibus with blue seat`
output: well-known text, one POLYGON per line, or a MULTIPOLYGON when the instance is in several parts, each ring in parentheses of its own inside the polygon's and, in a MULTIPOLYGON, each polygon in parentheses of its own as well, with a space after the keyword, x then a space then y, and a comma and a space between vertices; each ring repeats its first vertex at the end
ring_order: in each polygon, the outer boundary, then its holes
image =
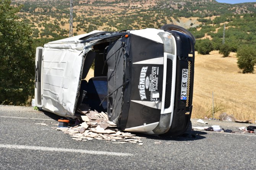
POLYGON ((96 110, 98 112, 107 111, 107 71, 106 61, 109 42, 97 44, 93 50, 87 52, 84 59, 81 85, 79 90, 77 109, 81 111, 96 110), (85 79, 91 66, 94 65, 94 77, 90 77, 87 82, 85 79), (105 99, 105 100, 104 100, 105 99), (102 102, 102 100, 104 100, 102 102), (100 105, 100 103, 102 104, 100 105))

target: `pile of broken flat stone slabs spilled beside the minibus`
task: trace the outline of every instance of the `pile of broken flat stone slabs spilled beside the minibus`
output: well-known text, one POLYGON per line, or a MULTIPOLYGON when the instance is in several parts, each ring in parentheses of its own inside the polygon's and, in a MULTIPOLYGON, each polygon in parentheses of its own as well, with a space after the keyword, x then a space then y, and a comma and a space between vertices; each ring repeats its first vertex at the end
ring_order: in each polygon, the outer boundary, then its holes
POLYGON ((130 142, 143 145, 141 137, 136 137, 134 134, 116 129, 117 125, 109 121, 107 114, 104 112, 89 111, 89 113, 86 113, 86 116, 81 116, 81 118, 84 122, 79 126, 58 127, 57 130, 69 134, 72 139, 77 141, 97 139, 113 141, 112 144, 130 142))

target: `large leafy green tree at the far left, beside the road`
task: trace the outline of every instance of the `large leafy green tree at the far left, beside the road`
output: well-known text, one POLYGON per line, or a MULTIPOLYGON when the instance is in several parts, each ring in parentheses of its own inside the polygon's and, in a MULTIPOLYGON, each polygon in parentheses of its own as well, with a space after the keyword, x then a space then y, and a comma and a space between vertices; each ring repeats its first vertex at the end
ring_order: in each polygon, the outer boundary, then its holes
POLYGON ((0 0, 0 104, 26 105, 33 95, 32 31, 18 21, 20 8, 0 0))

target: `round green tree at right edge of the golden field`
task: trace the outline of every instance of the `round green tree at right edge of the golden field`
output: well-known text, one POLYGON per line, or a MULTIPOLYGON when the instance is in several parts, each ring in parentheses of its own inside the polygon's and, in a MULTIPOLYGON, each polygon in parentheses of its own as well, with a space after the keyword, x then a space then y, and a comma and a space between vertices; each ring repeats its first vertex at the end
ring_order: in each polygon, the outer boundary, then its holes
POLYGON ((237 65, 243 70, 243 73, 253 73, 254 65, 256 65, 256 49, 255 46, 245 45, 238 48, 237 65))

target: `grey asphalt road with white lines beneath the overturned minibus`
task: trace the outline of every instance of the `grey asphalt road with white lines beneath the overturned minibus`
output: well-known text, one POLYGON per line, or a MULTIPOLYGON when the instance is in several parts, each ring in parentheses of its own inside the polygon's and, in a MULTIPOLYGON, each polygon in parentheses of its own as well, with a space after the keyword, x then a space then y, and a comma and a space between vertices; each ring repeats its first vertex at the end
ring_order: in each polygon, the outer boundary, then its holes
POLYGON ((139 146, 75 141, 51 128, 56 119, 32 107, 0 105, 0 169, 256 169, 256 135, 249 133, 139 135, 146 137, 139 146), (43 122, 47 126, 35 124, 43 122), (162 144, 155 144, 159 141, 162 144))

